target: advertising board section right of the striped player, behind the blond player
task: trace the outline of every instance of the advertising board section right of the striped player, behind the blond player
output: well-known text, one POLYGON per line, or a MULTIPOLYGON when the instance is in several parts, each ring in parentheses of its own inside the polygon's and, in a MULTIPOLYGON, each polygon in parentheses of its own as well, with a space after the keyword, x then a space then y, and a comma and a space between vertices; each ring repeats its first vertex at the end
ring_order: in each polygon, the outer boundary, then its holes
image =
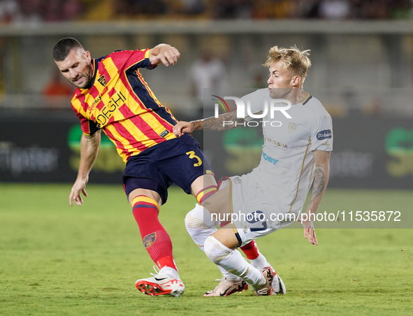
MULTIPOLYGON (((328 187, 412 189, 413 124, 384 117, 333 117, 328 187)), ((198 136, 198 132, 194 133, 198 136)), ((238 127, 203 135, 217 178, 252 171, 263 155, 261 128, 238 127)))

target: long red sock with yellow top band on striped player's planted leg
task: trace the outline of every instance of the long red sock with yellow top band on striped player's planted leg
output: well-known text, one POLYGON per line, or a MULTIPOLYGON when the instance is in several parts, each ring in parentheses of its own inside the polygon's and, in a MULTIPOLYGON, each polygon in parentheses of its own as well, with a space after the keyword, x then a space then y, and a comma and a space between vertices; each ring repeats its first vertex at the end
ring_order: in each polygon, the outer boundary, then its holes
POLYGON ((142 242, 158 268, 170 266, 177 270, 172 255, 172 242, 158 219, 157 201, 148 196, 138 195, 133 199, 133 216, 138 223, 142 242))

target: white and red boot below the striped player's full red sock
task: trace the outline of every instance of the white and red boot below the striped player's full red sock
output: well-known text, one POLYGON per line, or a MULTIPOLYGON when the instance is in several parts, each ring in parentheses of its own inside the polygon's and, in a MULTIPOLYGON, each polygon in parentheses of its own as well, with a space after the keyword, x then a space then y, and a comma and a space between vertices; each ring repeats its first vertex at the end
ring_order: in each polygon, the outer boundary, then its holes
POLYGON ((167 274, 151 274, 153 277, 139 279, 135 282, 136 288, 143 294, 150 296, 169 294, 175 297, 184 294, 185 287, 181 280, 171 278, 167 274))

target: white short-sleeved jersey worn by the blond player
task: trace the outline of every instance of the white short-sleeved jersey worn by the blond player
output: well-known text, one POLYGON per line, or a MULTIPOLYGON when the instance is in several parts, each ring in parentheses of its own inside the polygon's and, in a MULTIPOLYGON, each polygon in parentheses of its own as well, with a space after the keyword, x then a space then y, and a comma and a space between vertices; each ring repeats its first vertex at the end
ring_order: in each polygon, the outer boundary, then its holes
MULTIPOLYGON (((251 102, 251 113, 265 110, 264 104, 271 100, 268 89, 256 90, 241 99, 245 104, 251 102)), ((276 213, 298 214, 314 179, 312 152, 333 150, 333 123, 324 106, 310 94, 286 112, 291 119, 280 110, 274 111, 273 118, 267 113, 260 119, 263 121, 260 123, 263 126, 263 154, 251 175, 273 199, 276 213), (281 122, 280 127, 277 122, 281 122)), ((247 117, 245 120, 252 119, 247 117)))

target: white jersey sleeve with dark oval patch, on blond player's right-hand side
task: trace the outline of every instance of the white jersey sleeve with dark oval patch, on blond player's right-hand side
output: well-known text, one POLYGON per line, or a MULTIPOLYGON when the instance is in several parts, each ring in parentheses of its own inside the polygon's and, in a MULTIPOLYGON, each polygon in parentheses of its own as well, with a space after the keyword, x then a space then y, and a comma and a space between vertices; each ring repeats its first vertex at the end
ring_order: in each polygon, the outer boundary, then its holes
POLYGON ((333 150, 333 122, 328 113, 321 114, 310 122, 310 150, 333 150))

